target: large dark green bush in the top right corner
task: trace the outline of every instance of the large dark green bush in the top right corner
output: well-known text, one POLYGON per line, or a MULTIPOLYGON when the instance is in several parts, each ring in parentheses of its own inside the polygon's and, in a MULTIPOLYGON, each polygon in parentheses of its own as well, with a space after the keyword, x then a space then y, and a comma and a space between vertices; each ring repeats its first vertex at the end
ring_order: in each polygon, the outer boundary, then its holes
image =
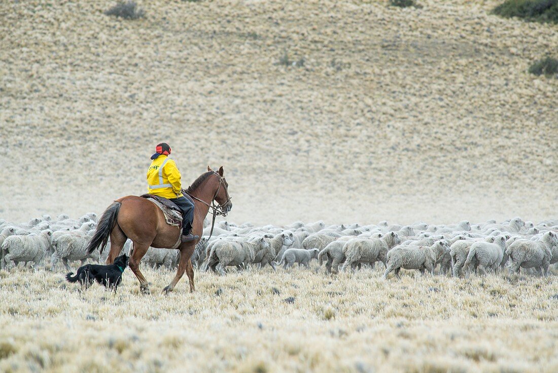
POLYGON ((506 18, 558 23, 558 0, 506 0, 493 13, 506 18))

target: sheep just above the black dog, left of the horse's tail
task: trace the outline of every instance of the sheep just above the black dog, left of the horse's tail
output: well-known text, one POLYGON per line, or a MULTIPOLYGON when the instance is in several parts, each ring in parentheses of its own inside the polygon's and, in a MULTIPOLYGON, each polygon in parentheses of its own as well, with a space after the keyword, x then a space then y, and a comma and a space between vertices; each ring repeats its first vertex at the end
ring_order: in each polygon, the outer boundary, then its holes
POLYGON ((56 266, 56 262, 62 261, 64 263, 64 267, 66 270, 70 271, 71 268, 68 264, 68 261, 81 261, 81 265, 83 266, 85 260, 88 258, 93 259, 95 262, 99 262, 100 253, 99 249, 95 249, 92 253, 87 252, 87 246, 93 235, 75 235, 75 234, 68 234, 59 236, 56 239, 56 242, 53 240, 53 244, 55 245, 54 253, 50 258, 50 270, 54 271, 56 266))

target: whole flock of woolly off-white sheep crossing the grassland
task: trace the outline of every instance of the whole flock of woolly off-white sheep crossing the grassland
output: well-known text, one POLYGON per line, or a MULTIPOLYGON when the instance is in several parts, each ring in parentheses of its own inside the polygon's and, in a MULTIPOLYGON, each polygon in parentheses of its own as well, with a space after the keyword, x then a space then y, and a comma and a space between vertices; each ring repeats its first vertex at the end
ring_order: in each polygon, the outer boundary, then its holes
MULTIPOLYGON (((55 270, 61 261, 71 270, 69 261, 104 262, 109 248, 86 253, 89 240, 97 226, 97 215, 89 213, 78 220, 62 214, 57 219, 49 215, 31 219, 25 224, 0 220, 0 264, 10 270, 20 262, 37 267, 47 261, 55 270)), ((322 221, 288 226, 254 227, 246 223, 235 225, 219 222, 209 237, 205 226, 200 243, 192 257, 200 271, 224 273, 226 267, 243 270, 277 265, 289 268, 294 263, 309 267, 312 259, 325 262, 330 273, 354 271, 362 266, 374 267, 382 262, 383 277, 393 272, 399 277, 401 268, 428 271, 460 277, 465 271, 497 273, 508 267, 510 272, 548 275, 549 265, 558 262, 558 220, 533 224, 514 218, 503 223, 487 221, 455 225, 329 225, 322 221)), ((130 242, 123 252, 129 252, 130 242)), ((176 267, 179 251, 150 248, 142 259, 143 265, 169 269, 176 267)))

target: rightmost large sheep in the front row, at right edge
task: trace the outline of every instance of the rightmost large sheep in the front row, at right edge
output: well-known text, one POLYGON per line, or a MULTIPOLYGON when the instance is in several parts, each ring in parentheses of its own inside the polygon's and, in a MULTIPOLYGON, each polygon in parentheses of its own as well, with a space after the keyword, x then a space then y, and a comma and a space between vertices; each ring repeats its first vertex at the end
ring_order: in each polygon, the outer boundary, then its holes
POLYGON ((549 273, 552 253, 558 248, 556 233, 546 232, 538 241, 518 239, 506 250, 511 261, 511 272, 519 272, 522 268, 540 268, 545 275, 549 273))

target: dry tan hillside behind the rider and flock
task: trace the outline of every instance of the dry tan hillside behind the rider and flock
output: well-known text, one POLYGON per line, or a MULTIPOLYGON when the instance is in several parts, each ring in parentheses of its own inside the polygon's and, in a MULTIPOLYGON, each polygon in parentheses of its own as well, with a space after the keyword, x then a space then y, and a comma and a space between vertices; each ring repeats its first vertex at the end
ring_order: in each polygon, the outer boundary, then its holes
POLYGON ((556 218, 557 27, 421 3, 2 2, 0 217, 100 213, 167 141, 237 223, 556 218))

